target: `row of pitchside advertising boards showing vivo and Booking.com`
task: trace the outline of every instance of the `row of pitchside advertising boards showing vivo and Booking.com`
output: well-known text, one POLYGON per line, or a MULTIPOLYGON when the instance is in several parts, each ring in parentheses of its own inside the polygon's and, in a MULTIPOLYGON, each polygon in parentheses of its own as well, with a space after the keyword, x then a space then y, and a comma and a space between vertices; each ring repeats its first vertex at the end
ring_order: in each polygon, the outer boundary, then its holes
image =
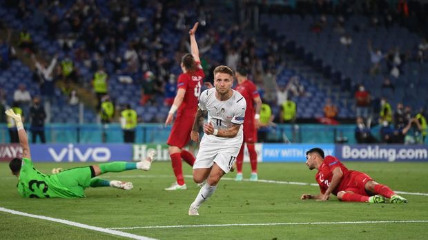
MULTIPOLYGON (((325 155, 342 161, 427 162, 426 145, 353 145, 353 144, 271 144, 257 143, 258 162, 305 162, 306 151, 320 147, 325 155)), ((30 144, 34 162, 109 162, 139 161, 151 149, 157 160, 169 161, 166 144, 30 144)), ((197 154, 197 149, 190 149, 197 154)), ((19 144, 0 144, 0 161, 21 157, 19 144)), ((244 161, 249 162, 245 148, 244 161)))

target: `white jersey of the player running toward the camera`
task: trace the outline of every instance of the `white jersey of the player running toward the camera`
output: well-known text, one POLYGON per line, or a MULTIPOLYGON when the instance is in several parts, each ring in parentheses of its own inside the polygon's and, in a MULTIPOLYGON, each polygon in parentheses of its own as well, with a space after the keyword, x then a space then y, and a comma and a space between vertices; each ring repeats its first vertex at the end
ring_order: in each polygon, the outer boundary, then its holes
MULTIPOLYGON (((215 129, 228 129, 232 124, 241 124, 235 138, 220 138, 215 135, 204 134, 201 143, 208 141, 217 144, 239 145, 242 144, 242 124, 244 123, 246 101, 237 91, 232 90, 233 95, 225 101, 220 101, 215 97, 215 88, 206 89, 200 95, 199 107, 208 111, 208 122, 213 124, 215 129)), ((214 146, 215 147, 215 146, 214 146)))

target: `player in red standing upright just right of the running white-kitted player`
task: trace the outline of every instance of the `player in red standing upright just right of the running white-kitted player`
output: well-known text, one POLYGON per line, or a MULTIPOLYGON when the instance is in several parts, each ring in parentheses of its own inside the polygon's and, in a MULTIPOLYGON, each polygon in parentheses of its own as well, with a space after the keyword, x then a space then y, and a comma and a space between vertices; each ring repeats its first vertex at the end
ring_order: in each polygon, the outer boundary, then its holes
POLYGON ((257 181, 257 153, 254 143, 257 142, 257 129, 260 126, 260 109, 262 109, 262 99, 254 83, 247 77, 246 69, 237 69, 236 71, 238 91, 246 100, 246 111, 244 121, 244 142, 242 142, 240 153, 236 157, 237 175, 235 180, 242 181, 242 164, 244 162, 244 143, 249 149, 251 163, 250 181, 257 181))

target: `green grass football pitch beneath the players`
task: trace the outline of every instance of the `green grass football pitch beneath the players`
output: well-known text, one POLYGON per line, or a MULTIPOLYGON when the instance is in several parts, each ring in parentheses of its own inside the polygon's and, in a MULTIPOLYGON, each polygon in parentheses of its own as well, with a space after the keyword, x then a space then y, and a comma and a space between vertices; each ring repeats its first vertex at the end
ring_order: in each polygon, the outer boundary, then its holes
MULTIPOLYGON (((428 163, 344 162, 368 173, 376 182, 406 193, 428 193, 428 163)), ((86 164, 37 163, 50 173, 53 167, 86 164)), ((184 164, 184 173, 191 167, 184 164)), ((244 179, 249 177, 244 164, 244 179)), ((302 193, 318 193, 317 186, 268 182, 235 182, 225 175, 214 195, 189 217, 188 206, 199 191, 191 177, 188 190, 167 192, 174 182, 169 162, 154 162, 152 169, 108 173, 101 177, 133 182, 133 190, 88 188, 84 199, 23 199, 8 164, 0 164, 0 207, 34 215, 66 219, 101 228, 186 226, 177 228, 117 229, 155 239, 427 239, 428 195, 402 194, 408 204, 302 201, 302 193), (377 221, 425 222, 379 223, 377 221), (337 223, 344 222, 348 223, 337 223), (366 221, 375 221, 365 223, 366 221), (322 222, 323 224, 316 223, 322 222), (333 224, 336 222, 336 224, 333 224), (360 222, 360 223, 356 223, 360 222), (249 224, 254 226, 217 226, 249 224), (269 225, 281 223, 283 225, 269 225), (284 225, 284 223, 287 223, 284 225), (305 223, 305 224, 296 224, 305 223), (313 224, 308 224, 313 223, 313 224), (214 226, 201 226, 201 225, 214 226), (267 225, 262 225, 267 224, 267 225), (189 227, 193 226, 193 227, 189 227), (198 227, 195 227, 198 226, 198 227)), ((259 179, 315 183, 315 170, 302 163, 260 163, 259 179)), ((124 239, 112 234, 0 212, 0 239, 124 239)))

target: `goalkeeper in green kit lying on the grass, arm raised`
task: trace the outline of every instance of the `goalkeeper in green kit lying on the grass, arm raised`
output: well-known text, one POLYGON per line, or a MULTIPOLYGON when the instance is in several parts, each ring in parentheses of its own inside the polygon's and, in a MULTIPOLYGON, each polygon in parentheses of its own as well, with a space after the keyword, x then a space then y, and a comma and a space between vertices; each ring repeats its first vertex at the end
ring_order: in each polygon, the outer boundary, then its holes
POLYGON ((108 181, 97 178, 96 176, 103 173, 118 173, 132 169, 148 171, 155 155, 155 151, 151 151, 148 153, 146 160, 142 160, 141 162, 110 162, 106 164, 70 168, 57 174, 46 175, 37 171, 32 164, 27 133, 25 129, 23 129, 21 116, 14 113, 12 109, 7 110, 6 115, 15 121, 18 129, 19 142, 22 146, 22 159, 14 158, 9 163, 12 174, 19 179, 17 187, 22 197, 86 197, 84 190, 89 186, 94 188, 110 186, 113 188, 130 190, 133 188, 131 182, 108 181))

